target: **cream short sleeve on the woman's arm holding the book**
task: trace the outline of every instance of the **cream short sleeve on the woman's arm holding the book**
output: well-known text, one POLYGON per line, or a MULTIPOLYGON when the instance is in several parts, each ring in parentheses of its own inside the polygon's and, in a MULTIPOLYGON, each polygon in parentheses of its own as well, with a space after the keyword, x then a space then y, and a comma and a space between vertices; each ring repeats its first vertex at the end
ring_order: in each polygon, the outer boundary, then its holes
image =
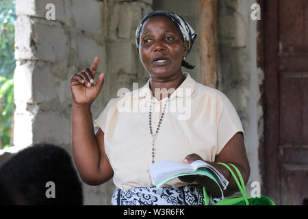
POLYGON ((218 114, 218 129, 217 129, 217 151, 216 155, 222 151, 224 146, 231 140, 235 133, 242 131, 244 135, 244 129, 238 112, 236 112, 235 107, 228 99, 228 97, 219 92, 218 105, 220 109, 220 114, 218 114))

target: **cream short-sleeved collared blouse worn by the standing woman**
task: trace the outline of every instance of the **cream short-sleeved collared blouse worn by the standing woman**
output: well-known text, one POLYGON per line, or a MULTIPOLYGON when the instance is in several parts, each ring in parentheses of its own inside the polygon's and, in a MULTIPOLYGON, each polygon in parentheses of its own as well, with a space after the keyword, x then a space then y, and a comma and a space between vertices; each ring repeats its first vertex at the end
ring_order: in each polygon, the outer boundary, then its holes
MULTIPOLYGON (((155 162, 181 162, 196 153, 214 162, 216 155, 238 131, 241 120, 231 101, 220 90, 204 86, 189 73, 170 98, 154 98, 152 130, 156 131, 160 115, 167 106, 155 138, 155 162)), ((132 92, 111 99, 94 127, 105 133, 105 153, 114 170, 114 184, 127 190, 154 186, 148 172, 152 163, 152 136, 149 129, 149 105, 152 91, 149 81, 132 92)), ((163 186, 187 185, 173 179, 163 186)))

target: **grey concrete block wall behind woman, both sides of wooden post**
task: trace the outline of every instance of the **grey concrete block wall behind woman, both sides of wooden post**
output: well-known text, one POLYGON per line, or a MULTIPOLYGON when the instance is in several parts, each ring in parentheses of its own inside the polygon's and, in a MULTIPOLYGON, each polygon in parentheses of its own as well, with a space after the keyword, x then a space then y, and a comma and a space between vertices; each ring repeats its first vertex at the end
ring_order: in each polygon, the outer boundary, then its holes
MULTIPOLYGON (((257 25, 250 18, 252 0, 226 0, 218 4, 220 70, 218 89, 238 110, 245 133, 251 181, 260 181, 257 148, 263 121, 259 84, 263 73, 257 66, 257 25)), ((0 151, 0 165, 18 150, 38 142, 60 145, 72 155, 71 101, 69 81, 92 64, 95 55, 106 73, 101 94, 92 105, 97 118, 119 88, 139 88, 149 79, 134 44, 138 22, 152 10, 181 14, 198 34, 198 0, 16 0, 16 103, 14 146, 0 151), (45 6, 55 5, 55 21, 47 21, 45 6), (107 18, 107 19, 105 19, 107 18), (106 35, 105 35, 106 34, 106 35)), ((196 66, 187 70, 199 81, 198 38, 188 55, 196 66)), ((109 205, 114 184, 84 184, 85 205, 109 205)))

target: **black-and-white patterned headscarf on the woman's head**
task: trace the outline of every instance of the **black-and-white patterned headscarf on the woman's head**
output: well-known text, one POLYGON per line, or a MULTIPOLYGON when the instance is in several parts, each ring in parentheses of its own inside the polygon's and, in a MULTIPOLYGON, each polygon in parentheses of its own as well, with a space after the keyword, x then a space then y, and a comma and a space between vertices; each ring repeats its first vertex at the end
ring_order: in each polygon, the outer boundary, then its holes
POLYGON ((179 29, 181 30, 184 41, 189 42, 189 49, 188 49, 188 53, 189 53, 190 49, 192 49, 192 44, 194 44, 194 40, 196 39, 196 36, 197 36, 194 33, 194 29, 192 29, 192 27, 190 27, 190 25, 181 16, 179 16, 179 14, 175 14, 175 12, 170 12, 170 11, 165 11, 165 10, 150 12, 149 14, 146 14, 144 18, 142 18, 142 20, 140 21, 136 29, 136 47, 137 48, 139 47, 140 31, 141 31, 142 25, 147 19, 155 15, 167 16, 179 26, 179 29))

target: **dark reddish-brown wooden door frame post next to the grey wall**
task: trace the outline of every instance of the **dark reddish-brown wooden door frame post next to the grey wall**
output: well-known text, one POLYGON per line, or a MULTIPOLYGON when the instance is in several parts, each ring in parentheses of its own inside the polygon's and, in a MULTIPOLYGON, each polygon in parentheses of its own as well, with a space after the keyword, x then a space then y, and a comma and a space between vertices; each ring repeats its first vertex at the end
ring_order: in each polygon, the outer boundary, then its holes
POLYGON ((261 105, 264 112, 264 137, 259 140, 259 171, 261 193, 281 203, 279 146, 279 1, 259 0, 261 21, 257 31, 257 65, 264 71, 260 86, 261 105))

